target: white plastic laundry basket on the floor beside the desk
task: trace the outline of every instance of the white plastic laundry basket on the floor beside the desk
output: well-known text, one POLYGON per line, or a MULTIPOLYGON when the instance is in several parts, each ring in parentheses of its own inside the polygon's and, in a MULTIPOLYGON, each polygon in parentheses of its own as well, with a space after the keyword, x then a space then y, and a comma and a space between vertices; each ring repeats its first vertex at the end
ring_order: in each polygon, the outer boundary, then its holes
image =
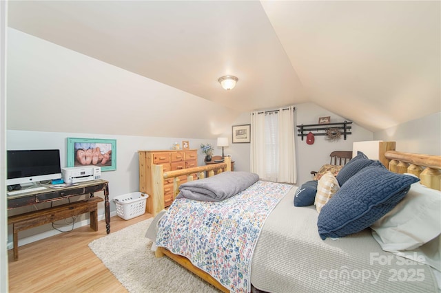
POLYGON ((144 215, 147 197, 147 193, 139 191, 115 197, 113 200, 116 204, 116 214, 125 220, 144 215))

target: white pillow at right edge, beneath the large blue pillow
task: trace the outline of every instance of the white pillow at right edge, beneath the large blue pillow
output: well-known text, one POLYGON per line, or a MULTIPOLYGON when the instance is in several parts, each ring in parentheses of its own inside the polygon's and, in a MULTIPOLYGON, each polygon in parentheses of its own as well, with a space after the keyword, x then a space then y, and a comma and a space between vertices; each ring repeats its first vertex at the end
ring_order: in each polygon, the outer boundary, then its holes
POLYGON ((371 228, 383 250, 413 250, 441 234, 441 191, 416 182, 371 228))

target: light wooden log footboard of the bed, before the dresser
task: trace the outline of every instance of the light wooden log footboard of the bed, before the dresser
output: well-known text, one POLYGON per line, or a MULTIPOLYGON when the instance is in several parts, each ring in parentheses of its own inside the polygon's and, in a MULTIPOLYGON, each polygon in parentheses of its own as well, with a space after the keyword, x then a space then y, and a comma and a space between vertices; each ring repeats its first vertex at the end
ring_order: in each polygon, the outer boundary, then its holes
POLYGON ((194 168, 188 168, 183 170, 176 171, 163 171, 162 165, 154 165, 153 169, 153 197, 152 197, 152 206, 153 206, 153 215, 156 216, 161 210, 164 209, 164 179, 174 178, 173 180, 173 199, 179 193, 179 186, 181 182, 179 180, 179 176, 186 175, 187 181, 194 180, 194 174, 198 179, 205 178, 205 173, 208 174, 208 177, 214 176, 215 174, 222 173, 225 171, 232 170, 232 161, 231 158, 225 157, 223 163, 219 164, 210 164, 207 166, 197 166, 194 168))

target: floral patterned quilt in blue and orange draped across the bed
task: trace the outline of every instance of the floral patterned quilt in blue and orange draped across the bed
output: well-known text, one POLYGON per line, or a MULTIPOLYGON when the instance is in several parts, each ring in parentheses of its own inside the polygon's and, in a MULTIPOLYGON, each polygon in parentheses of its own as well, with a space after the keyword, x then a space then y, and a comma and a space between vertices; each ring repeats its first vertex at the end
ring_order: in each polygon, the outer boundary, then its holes
POLYGON ((158 225, 156 246, 187 257, 232 292, 250 292, 260 230, 291 187, 258 181, 221 202, 176 199, 158 225))

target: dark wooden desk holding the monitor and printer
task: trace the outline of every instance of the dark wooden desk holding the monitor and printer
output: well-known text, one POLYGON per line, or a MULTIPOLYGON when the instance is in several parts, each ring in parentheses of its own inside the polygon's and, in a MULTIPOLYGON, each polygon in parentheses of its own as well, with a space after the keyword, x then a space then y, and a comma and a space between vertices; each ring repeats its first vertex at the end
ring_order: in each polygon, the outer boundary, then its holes
POLYGON ((84 195, 90 193, 90 197, 94 197, 94 193, 104 191, 104 209, 105 209, 105 228, 107 234, 110 233, 110 205, 109 205, 109 182, 105 180, 94 180, 81 182, 78 185, 63 186, 61 188, 47 188, 43 191, 30 191, 29 193, 21 193, 18 195, 8 195, 8 210, 19 208, 21 206, 31 206, 41 202, 55 202, 59 199, 73 197, 76 195, 84 195))

